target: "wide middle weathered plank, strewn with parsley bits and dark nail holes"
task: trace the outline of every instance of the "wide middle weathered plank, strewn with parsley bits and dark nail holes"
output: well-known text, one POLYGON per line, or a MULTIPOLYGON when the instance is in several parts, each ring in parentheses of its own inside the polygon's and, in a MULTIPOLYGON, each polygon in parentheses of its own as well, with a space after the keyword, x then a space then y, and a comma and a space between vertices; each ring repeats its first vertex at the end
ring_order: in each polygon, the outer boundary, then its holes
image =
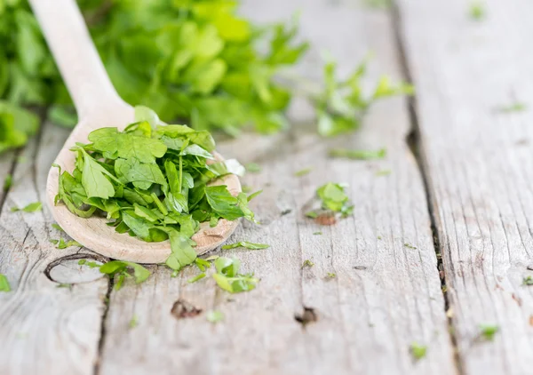
MULTIPOLYGON (((243 12, 266 22, 298 9, 302 34, 314 45, 300 72, 320 78, 320 51, 327 48, 346 75, 372 49, 370 75, 400 77, 386 13, 320 0, 250 1, 243 12)), ((176 279, 152 267, 147 283, 112 292, 99 373, 455 373, 424 187, 404 141, 410 131, 405 100, 382 103, 362 132, 327 142, 313 135, 310 110, 294 103, 296 131, 219 144, 223 155, 262 166, 243 180, 264 189, 251 204, 262 225, 243 223, 230 242, 271 247, 214 252, 241 259, 243 272, 261 279, 257 290, 229 295, 211 277, 187 283, 198 273, 193 267, 176 279), (386 147, 389 154, 380 162, 329 160, 326 148, 333 145, 386 147), (306 167, 314 171, 294 176, 306 167), (382 169, 392 173, 376 176, 382 169), (336 226, 319 227, 303 212, 315 188, 329 180, 351 184, 355 212, 336 226), (302 269, 305 259, 314 267, 302 269), (327 280, 329 272, 337 277, 327 280), (203 311, 177 318, 171 308, 179 299, 203 311), (318 317, 306 327, 295 320, 304 307, 318 317), (213 308, 225 314, 224 322, 206 321, 213 308), (418 363, 409 353, 414 341, 429 347, 418 363)))

